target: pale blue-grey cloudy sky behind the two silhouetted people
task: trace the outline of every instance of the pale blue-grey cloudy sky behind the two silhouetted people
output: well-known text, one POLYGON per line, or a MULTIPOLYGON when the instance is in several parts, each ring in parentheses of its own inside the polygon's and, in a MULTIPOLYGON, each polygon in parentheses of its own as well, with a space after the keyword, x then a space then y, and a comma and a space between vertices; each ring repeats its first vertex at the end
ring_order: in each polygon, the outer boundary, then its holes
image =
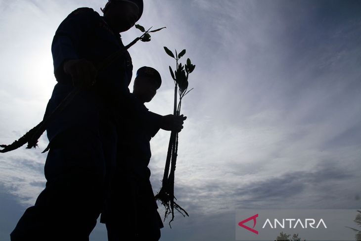
MULTIPOLYGON (((56 83, 51 41, 74 9, 100 0, 0 0, 0 143, 42 120, 56 83)), ((130 49, 134 69, 163 83, 147 107, 172 113, 174 66, 163 46, 196 65, 182 113, 176 196, 189 217, 161 240, 234 240, 240 208, 361 207, 361 3, 349 0, 148 0, 139 24, 163 27, 130 49)), ((139 32, 122 34, 129 43, 139 32)), ((133 82, 130 85, 132 90, 133 82)), ((161 185, 169 133, 152 139, 161 185)), ((38 149, 0 155, 0 240, 45 187, 38 149)), ((159 206, 161 206, 159 204, 159 206)), ((159 209, 161 215, 164 210, 159 209)), ((275 238, 275 237, 274 237, 275 238)), ((90 240, 106 239, 98 224, 90 240)))

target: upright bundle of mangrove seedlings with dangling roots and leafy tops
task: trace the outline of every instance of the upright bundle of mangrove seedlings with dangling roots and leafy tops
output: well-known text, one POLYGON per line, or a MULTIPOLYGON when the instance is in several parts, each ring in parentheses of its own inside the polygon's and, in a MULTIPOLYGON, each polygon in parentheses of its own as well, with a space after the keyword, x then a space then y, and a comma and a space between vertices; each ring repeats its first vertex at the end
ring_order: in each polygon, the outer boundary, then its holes
MULTIPOLYGON (((166 53, 176 60, 177 66, 176 70, 173 73, 172 67, 169 66, 169 70, 171 72, 172 78, 174 80, 174 112, 173 114, 176 116, 180 116, 181 113, 181 101, 182 98, 188 94, 192 89, 187 91, 188 89, 188 75, 193 72, 195 65, 190 62, 188 58, 185 65, 178 63, 179 59, 185 54, 185 49, 183 49, 178 55, 176 50, 176 55, 169 50, 167 47, 164 47, 166 53), (179 89, 178 89, 179 88, 179 89), (177 104, 177 92, 179 94, 179 102, 177 104)), ((171 226, 171 222, 174 220, 174 208, 179 211, 183 217, 185 215, 189 216, 188 213, 178 205, 174 199, 177 198, 174 196, 174 173, 176 170, 176 162, 178 155, 178 132, 172 131, 171 138, 169 139, 168 152, 166 158, 166 166, 164 168, 164 175, 162 180, 162 188, 159 193, 155 195, 157 200, 160 200, 164 207, 166 208, 166 212, 164 215, 164 220, 168 217, 170 213, 172 213, 172 220, 169 222, 169 226, 171 226), (171 170, 169 171, 169 167, 171 166, 171 170)))

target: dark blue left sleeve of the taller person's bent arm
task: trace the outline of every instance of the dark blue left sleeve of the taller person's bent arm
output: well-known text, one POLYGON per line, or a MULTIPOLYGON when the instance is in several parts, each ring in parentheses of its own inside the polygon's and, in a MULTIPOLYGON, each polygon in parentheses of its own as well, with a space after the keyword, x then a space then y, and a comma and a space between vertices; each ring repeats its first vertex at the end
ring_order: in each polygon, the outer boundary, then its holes
POLYGON ((80 58, 80 45, 89 36, 96 14, 91 8, 78 8, 70 13, 56 30, 51 52, 54 75, 58 82, 62 84, 72 83, 70 75, 64 73, 64 61, 80 58))

